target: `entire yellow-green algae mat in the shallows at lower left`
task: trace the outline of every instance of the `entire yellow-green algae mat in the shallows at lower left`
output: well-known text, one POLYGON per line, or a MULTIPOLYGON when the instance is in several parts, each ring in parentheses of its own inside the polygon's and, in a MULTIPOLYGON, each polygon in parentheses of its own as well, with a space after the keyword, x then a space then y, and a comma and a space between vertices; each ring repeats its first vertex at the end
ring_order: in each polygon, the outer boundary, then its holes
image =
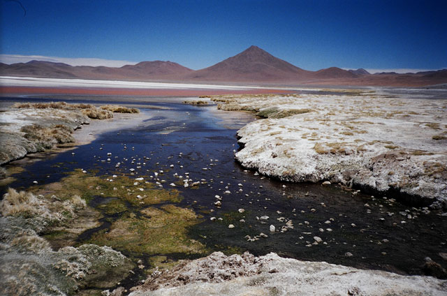
MULTIPOLYGON (((108 223, 107 227, 88 235, 75 233, 69 225, 52 229, 45 235, 52 246, 60 248, 64 244, 85 243, 110 246, 133 261, 140 256, 149 256, 147 268, 175 265, 176 260, 168 260, 172 256, 189 258, 210 252, 204 244, 191 239, 189 228, 203 219, 193 209, 174 205, 182 200, 179 191, 158 188, 145 181, 147 176, 132 177, 118 172, 98 176, 95 173, 74 170, 59 182, 30 188, 36 194, 55 195, 59 200, 79 195, 87 200, 88 208, 98 214, 94 217, 96 223, 101 218, 103 223, 108 223)), ((77 219, 82 219, 82 215, 77 219)))

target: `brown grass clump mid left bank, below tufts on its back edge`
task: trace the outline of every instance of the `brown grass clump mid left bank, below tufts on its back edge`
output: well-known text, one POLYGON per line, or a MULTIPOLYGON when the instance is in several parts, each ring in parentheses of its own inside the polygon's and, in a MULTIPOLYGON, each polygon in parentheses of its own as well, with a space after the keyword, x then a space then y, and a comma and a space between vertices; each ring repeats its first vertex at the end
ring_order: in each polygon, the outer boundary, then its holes
POLYGON ((73 128, 62 124, 50 127, 33 124, 31 126, 23 126, 20 128, 20 131, 25 133, 24 138, 40 142, 45 148, 51 148, 55 143, 64 144, 75 142, 75 139, 71 135, 73 128))

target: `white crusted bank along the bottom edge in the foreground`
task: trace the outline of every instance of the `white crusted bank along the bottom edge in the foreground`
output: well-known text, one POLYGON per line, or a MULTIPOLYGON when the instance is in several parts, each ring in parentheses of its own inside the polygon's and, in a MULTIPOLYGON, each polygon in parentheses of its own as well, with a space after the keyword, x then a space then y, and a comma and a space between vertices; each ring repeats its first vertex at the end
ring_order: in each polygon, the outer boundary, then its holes
POLYGON ((447 281, 326 262, 212 253, 154 272, 131 295, 446 295, 447 281))

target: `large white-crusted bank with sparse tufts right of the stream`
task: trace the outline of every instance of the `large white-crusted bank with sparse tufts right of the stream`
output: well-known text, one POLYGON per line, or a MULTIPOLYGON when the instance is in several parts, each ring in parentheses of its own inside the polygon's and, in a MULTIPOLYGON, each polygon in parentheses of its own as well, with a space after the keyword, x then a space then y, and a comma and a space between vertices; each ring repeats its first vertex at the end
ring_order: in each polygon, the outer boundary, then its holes
POLYGON ((290 182, 332 182, 447 208, 447 99, 343 95, 214 96, 265 119, 237 132, 235 158, 290 182))

